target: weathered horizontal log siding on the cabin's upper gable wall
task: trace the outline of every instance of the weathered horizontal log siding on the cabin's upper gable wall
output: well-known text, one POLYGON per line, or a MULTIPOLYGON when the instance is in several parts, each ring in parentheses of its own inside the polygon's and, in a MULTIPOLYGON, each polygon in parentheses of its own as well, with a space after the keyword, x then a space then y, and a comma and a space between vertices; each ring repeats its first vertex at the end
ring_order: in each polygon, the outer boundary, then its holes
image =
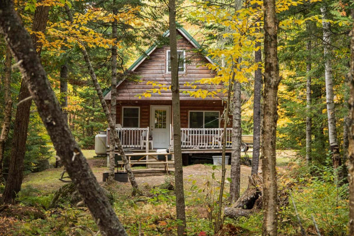
MULTIPOLYGON (((201 100, 201 98, 196 99, 194 97, 190 97, 187 91, 193 91, 192 88, 183 86, 186 82, 193 82, 203 78, 212 78, 216 76, 215 71, 211 71, 207 67, 198 66, 201 64, 208 63, 204 56, 196 54, 192 50, 195 47, 190 44, 182 35, 181 38, 177 42, 178 50, 186 51, 186 71, 185 73, 179 74, 179 85, 181 86, 180 97, 181 100, 201 100)), ((166 51, 169 50, 170 47, 163 46, 161 48, 156 48, 154 52, 152 52, 149 58, 145 59, 136 69, 137 72, 141 76, 141 82, 131 82, 124 81, 117 88, 117 100, 136 100, 136 96, 139 94, 143 94, 147 90, 151 90, 152 85, 146 85, 147 81, 156 81, 160 84, 171 85, 171 73, 166 73, 166 51)), ((197 89, 206 89, 209 91, 213 91, 216 88, 220 88, 221 86, 216 85, 200 85, 197 89)), ((155 87, 157 88, 157 87, 155 87)), ((161 94, 152 93, 150 98, 142 97, 140 100, 171 100, 172 93, 171 90, 161 90, 161 94)), ((206 100, 220 100, 220 98, 211 98, 207 97, 206 100)), ((221 103, 219 101, 219 103, 221 103)))

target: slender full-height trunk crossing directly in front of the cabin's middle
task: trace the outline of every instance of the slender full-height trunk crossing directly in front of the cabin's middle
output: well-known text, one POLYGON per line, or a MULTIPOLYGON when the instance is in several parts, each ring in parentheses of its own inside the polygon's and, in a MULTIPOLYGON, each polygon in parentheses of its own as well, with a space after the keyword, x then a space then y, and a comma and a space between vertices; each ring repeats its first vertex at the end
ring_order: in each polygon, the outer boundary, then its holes
POLYGON ((173 121, 173 152, 175 154, 175 194, 176 194, 176 215, 178 224, 177 235, 184 235, 185 232, 185 209, 183 190, 183 166, 181 150, 181 114, 179 110, 179 81, 177 55, 177 29, 176 29, 176 1, 169 0, 169 29, 170 29, 170 50, 171 50, 171 92, 172 92, 172 121, 173 121))

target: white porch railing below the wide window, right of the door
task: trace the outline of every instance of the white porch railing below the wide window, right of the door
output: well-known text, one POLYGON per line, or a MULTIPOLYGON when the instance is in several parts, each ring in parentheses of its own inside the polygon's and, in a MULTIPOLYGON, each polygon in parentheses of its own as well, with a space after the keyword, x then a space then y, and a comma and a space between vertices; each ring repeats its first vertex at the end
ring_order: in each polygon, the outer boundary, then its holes
MULTIPOLYGON (((182 148, 222 148, 223 128, 181 128, 182 148)), ((226 148, 232 146, 232 128, 226 129, 226 148)))

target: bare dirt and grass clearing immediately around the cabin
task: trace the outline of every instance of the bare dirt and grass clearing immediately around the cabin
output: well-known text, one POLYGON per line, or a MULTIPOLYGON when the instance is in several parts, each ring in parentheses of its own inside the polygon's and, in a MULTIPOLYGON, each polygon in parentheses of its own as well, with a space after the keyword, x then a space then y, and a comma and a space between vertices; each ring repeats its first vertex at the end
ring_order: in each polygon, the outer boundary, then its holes
MULTIPOLYGON (((251 151, 251 150, 250 150, 251 151)), ((252 152, 251 152, 252 153, 252 152)), ((292 151, 277 151, 277 162, 278 162, 278 172, 286 170, 286 165, 289 162, 288 157, 293 156, 292 151)), ((87 159, 92 172, 95 174, 98 182, 102 183, 102 173, 108 172, 106 167, 106 157, 93 158, 89 157, 87 159)), ((261 161, 259 163, 259 169, 261 169, 261 161)), ((64 183, 59 181, 59 177, 63 171, 62 168, 51 168, 39 173, 31 173, 27 175, 23 180, 23 186, 30 185, 34 188, 43 189, 46 186, 46 192, 52 192, 60 188, 64 183)), ((174 168, 169 168, 169 174, 164 171, 164 168, 145 168, 145 167, 133 167, 133 173, 140 186, 148 184, 150 186, 160 185, 165 182, 167 178, 174 179, 173 177, 174 168)), ((207 180, 211 179, 211 173, 214 172, 215 179, 220 180, 221 178, 221 167, 218 166, 215 170, 212 170, 212 165, 195 164, 183 167, 184 175, 184 185, 185 189, 190 188, 190 186, 198 185, 201 188, 207 180), (195 180, 195 181, 193 181, 195 180), (193 182, 193 184, 192 184, 193 182)), ((240 178, 240 190, 241 193, 247 188, 248 176, 251 173, 251 168, 248 166, 241 165, 241 178, 240 178)), ((280 174, 280 173, 279 173, 280 174)), ((230 165, 226 166, 226 179, 230 177, 230 165)), ((130 183, 117 182, 117 185, 112 186, 115 190, 124 190, 127 194, 131 192, 130 183)), ((229 189, 229 182, 225 181, 225 191, 229 189)))

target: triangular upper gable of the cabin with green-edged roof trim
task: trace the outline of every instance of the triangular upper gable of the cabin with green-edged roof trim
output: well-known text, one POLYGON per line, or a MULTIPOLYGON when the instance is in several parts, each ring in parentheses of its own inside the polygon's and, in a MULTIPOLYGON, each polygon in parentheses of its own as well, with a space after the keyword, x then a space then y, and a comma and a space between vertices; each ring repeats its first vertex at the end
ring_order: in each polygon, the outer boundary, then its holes
MULTIPOLYGON (((168 37, 169 31, 166 31, 163 36, 168 37)), ((186 55, 189 56, 189 63, 186 65, 186 73, 183 73, 180 76, 180 99, 190 99, 191 97, 183 91, 191 91, 190 87, 185 86, 185 82, 193 82, 202 78, 214 77, 216 73, 214 70, 210 70, 205 65, 207 62, 212 62, 209 57, 206 57, 200 53, 195 53, 193 48, 200 48, 199 43, 183 28, 178 28, 178 35, 180 36, 177 39, 177 48, 182 47, 186 48, 186 55)), ((152 85, 147 85, 147 81, 156 81, 161 84, 170 85, 171 82, 171 73, 167 73, 166 69, 166 48, 168 45, 159 45, 155 43, 144 55, 139 57, 130 67, 129 70, 135 71, 141 76, 139 81, 129 81, 121 80, 117 84, 117 99, 119 100, 134 100, 139 94, 143 94, 147 90, 151 90, 152 85), (162 59, 164 58, 164 59, 162 59), (164 64, 165 63, 165 64, 164 64)), ((204 88, 205 90, 214 90, 211 85, 200 85, 198 88, 204 88)), ((217 86, 216 86, 217 87, 217 86)), ((195 89, 192 89, 195 90, 195 89)), ((111 99, 110 89, 105 91, 104 99, 111 99)), ((152 98, 158 100, 171 99, 171 91, 161 91, 161 94, 152 93, 152 98), (156 96, 159 96, 158 98, 156 96)), ((139 98, 140 99, 140 98, 139 98)), ((142 100, 147 100, 149 98, 141 97, 142 100)), ((206 98, 206 99, 215 99, 215 98, 206 98)))

